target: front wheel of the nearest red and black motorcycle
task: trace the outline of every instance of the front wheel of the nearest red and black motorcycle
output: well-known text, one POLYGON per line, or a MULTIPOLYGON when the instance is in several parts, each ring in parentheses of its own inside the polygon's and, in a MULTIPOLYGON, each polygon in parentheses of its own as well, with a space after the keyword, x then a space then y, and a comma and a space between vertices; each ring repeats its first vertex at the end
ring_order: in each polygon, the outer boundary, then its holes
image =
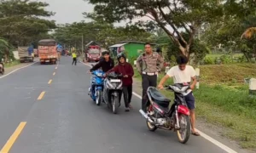
POLYGON ((191 133, 190 118, 184 114, 178 115, 180 129, 177 130, 177 139, 180 143, 185 144, 189 140, 191 133))

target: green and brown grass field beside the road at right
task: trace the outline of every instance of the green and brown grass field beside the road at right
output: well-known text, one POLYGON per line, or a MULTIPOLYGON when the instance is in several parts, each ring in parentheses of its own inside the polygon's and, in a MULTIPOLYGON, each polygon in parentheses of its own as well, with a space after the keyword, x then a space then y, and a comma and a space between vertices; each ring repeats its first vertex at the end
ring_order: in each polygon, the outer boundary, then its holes
MULTIPOLYGON (((256 98, 250 97, 248 85, 238 80, 253 74, 255 77, 255 67, 247 64, 201 66, 202 81, 194 91, 197 116, 225 127, 221 134, 247 149, 256 149, 256 98)), ((158 82, 163 76, 159 76, 158 82)), ((141 79, 137 71, 135 77, 141 79)), ((172 84, 172 79, 166 84, 172 84)), ((170 92, 162 92, 173 99, 170 92)))

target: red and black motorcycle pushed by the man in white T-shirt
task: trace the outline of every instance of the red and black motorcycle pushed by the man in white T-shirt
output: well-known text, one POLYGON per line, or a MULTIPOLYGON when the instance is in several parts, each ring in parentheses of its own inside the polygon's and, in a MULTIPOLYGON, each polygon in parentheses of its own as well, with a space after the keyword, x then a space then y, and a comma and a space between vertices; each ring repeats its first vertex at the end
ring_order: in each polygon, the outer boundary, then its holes
POLYGON ((169 108, 171 102, 160 93, 157 88, 149 87, 147 90, 149 106, 147 112, 139 112, 146 118, 149 131, 154 132, 157 128, 177 131, 177 139, 180 143, 185 144, 189 140, 190 129, 190 112, 183 93, 189 90, 189 86, 174 84, 167 86, 165 89, 174 92, 174 103, 169 108))

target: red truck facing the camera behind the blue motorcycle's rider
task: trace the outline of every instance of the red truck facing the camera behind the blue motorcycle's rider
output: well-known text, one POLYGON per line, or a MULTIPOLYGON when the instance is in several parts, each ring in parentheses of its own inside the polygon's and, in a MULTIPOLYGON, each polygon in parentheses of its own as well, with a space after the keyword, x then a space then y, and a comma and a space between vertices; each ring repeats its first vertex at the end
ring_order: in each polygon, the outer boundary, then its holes
POLYGON ((90 62, 90 61, 98 62, 100 60, 101 56, 102 56, 102 52, 101 52, 101 47, 100 46, 90 45, 86 49, 85 59, 87 60, 87 62, 90 62))

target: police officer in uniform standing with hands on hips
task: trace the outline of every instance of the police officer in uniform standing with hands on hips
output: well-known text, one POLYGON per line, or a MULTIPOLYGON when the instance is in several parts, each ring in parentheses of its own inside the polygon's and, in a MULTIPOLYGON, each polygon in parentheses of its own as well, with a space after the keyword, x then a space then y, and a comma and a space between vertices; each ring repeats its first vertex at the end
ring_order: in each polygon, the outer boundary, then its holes
POLYGON ((137 58, 137 71, 143 77, 143 99, 142 99, 142 109, 147 111, 147 89, 149 86, 156 87, 157 85, 157 75, 162 69, 164 64, 164 59, 160 54, 153 52, 150 43, 145 44, 145 53, 141 54, 137 58))

